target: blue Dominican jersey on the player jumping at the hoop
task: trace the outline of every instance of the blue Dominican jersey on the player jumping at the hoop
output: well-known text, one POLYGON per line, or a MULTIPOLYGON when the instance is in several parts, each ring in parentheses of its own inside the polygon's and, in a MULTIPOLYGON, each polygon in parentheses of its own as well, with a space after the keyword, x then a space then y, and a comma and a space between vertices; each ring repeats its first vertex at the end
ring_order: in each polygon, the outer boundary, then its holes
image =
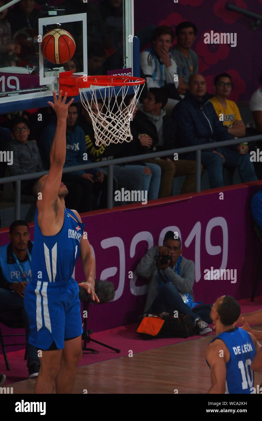
POLYGON ((56 235, 45 236, 34 218, 34 245, 32 248, 32 279, 35 281, 69 282, 80 253, 80 240, 85 224, 70 209, 64 210, 64 224, 56 235))

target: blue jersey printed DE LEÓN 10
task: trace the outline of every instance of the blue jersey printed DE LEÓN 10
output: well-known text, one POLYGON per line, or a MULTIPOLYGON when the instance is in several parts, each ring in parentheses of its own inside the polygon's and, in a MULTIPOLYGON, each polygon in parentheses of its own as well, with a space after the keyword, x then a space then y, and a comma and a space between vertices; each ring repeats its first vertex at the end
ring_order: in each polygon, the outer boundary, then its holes
POLYGON ((235 328, 220 333, 210 344, 216 339, 225 342, 230 352, 230 358, 226 363, 226 393, 250 394, 250 388, 254 386, 254 371, 250 365, 256 355, 251 336, 245 330, 235 328))

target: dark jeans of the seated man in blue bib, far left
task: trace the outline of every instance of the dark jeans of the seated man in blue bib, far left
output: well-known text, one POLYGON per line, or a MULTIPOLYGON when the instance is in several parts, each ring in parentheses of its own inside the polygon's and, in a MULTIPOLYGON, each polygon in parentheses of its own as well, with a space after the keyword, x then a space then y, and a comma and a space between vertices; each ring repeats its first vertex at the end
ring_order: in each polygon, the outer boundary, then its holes
POLYGON ((28 343, 30 326, 26 311, 24 309, 24 298, 20 297, 15 291, 9 291, 0 288, 0 307, 3 310, 21 310, 21 316, 26 330, 26 350, 28 355, 27 367, 29 367, 29 365, 33 362, 40 365, 39 358, 37 357, 37 348, 28 343))

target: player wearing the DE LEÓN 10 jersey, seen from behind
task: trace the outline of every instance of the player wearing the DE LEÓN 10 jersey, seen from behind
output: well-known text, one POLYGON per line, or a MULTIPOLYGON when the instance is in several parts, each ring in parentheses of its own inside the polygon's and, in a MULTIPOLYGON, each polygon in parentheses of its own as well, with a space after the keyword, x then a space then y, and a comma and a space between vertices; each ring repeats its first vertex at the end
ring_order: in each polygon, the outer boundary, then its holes
POLYGON ((210 317, 217 336, 206 349, 206 362, 210 367, 211 383, 207 393, 250 394, 254 387, 251 362, 261 345, 254 335, 235 328, 240 305, 231 296, 217 298, 210 317))

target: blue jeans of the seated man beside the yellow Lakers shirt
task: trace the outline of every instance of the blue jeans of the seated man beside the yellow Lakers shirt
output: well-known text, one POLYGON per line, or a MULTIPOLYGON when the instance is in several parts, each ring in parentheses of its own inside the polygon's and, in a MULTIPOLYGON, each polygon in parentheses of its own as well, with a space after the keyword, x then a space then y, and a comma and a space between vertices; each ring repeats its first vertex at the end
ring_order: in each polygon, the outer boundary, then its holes
MULTIPOLYGON (((251 163, 250 155, 248 153, 246 155, 241 155, 238 151, 234 151, 227 147, 215 148, 215 144, 214 149, 224 156, 225 166, 229 168, 238 167, 239 175, 243 183, 257 180, 254 165, 251 163)), ((195 159, 195 152, 187 154, 186 159, 195 159)), ((212 152, 212 150, 204 150, 201 151, 201 164, 208 172, 210 188, 223 187, 222 157, 212 152)))

